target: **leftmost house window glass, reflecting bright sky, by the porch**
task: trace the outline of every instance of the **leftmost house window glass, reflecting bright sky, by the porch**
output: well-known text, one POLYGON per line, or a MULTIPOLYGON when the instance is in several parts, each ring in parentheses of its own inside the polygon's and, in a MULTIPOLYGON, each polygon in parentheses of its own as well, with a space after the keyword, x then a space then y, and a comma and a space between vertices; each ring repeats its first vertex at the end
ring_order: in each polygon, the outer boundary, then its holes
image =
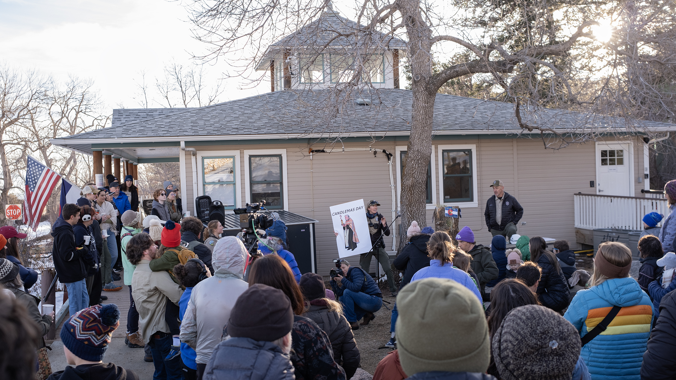
POLYGON ((204 195, 235 207, 235 157, 203 157, 202 182, 204 195))

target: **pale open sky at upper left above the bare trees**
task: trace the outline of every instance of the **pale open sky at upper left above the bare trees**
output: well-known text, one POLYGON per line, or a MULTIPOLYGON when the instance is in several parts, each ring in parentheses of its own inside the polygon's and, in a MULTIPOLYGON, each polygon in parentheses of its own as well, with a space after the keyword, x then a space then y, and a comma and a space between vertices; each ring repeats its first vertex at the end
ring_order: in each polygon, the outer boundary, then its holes
MULTIPOLYGON (((0 0, 0 61, 36 68, 55 78, 91 78, 108 109, 138 108, 134 79, 162 76, 164 63, 189 64, 191 53, 205 53, 192 38, 187 11, 166 0, 0 0)), ((227 63, 205 67, 212 78, 227 63)), ((238 89, 227 80, 219 97, 228 101, 267 92, 270 84, 238 89)))

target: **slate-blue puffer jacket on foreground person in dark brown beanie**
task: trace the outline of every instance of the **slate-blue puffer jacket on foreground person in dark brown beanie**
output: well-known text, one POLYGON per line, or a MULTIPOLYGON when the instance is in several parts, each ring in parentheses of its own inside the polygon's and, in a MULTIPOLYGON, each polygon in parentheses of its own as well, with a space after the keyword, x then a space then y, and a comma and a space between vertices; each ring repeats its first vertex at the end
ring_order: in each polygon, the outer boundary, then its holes
POLYGON ((292 380, 295 376, 289 356, 276 344, 231 337, 216 346, 202 378, 292 380))

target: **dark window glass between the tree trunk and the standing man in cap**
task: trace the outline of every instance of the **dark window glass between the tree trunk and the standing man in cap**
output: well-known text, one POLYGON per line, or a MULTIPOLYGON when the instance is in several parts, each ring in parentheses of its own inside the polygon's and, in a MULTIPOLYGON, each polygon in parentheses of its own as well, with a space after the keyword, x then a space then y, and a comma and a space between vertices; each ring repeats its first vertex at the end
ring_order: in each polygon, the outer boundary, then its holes
POLYGON ((443 151, 443 202, 468 202, 474 197, 472 151, 443 151))

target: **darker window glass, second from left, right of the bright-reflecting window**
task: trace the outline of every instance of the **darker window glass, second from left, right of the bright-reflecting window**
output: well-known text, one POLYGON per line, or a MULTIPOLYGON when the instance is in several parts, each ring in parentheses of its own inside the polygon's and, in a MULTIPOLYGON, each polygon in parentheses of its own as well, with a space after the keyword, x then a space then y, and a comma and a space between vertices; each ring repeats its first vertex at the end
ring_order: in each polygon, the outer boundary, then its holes
POLYGON ((268 209, 283 209, 282 157, 249 157, 251 203, 265 200, 268 209))

